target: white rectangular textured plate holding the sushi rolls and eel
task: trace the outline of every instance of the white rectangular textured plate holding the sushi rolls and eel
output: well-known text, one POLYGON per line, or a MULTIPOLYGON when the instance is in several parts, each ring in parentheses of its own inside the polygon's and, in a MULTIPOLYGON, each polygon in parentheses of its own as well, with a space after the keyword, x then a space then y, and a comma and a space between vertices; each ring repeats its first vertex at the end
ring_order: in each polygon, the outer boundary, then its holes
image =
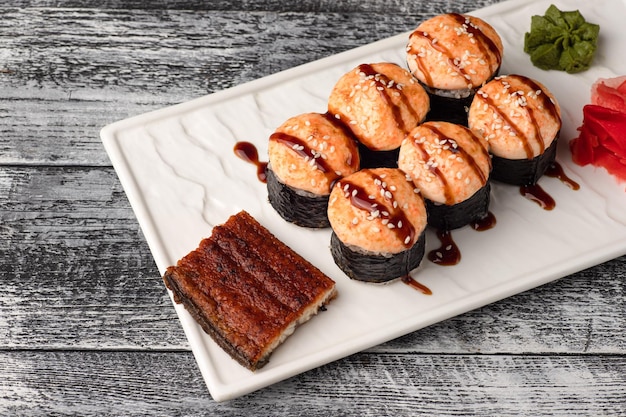
MULTIPOLYGON (((230 359, 175 305, 215 400, 249 393, 626 253, 625 185, 604 170, 574 165, 567 146, 576 136, 591 84, 598 77, 626 74, 626 3, 516 0, 472 14, 502 37, 502 74, 535 78, 559 99, 564 127, 557 158, 581 188, 574 191, 557 179, 542 178, 541 186, 556 201, 556 208, 546 211, 516 187, 494 184, 496 227, 454 231, 461 262, 442 267, 424 260, 413 273, 431 296, 401 282, 374 286, 349 280, 330 255, 330 232, 283 221, 269 206, 255 167, 233 153, 236 142, 250 141, 266 158, 273 130, 293 115, 325 112, 334 83, 355 66, 402 65, 408 33, 103 128, 103 143, 161 273, 195 249, 214 225, 245 209, 337 282, 340 295, 328 310, 299 328, 255 373, 230 359), (577 75, 542 71, 523 52, 531 16, 543 14, 553 2, 561 10, 579 9, 601 25, 592 69, 577 75)), ((427 235, 427 250, 436 246, 436 237, 427 235)))

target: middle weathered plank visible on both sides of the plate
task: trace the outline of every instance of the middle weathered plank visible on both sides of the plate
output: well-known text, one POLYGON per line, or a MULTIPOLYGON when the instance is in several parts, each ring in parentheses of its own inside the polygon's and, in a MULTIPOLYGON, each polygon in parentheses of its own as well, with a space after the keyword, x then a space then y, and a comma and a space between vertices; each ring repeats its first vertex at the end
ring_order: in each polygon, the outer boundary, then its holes
MULTIPOLYGON (((186 349, 111 168, 0 168, 0 347, 186 349)), ((626 257, 376 351, 626 352, 626 257)))

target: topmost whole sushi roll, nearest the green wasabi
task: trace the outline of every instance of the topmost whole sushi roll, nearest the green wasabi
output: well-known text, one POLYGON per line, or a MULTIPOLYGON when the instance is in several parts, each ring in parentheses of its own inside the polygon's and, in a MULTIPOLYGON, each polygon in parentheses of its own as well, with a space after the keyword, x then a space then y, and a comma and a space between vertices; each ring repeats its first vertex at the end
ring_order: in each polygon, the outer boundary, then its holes
POLYGON ((498 74, 503 46, 484 20, 458 13, 422 22, 409 36, 407 65, 430 96, 428 120, 467 126, 476 90, 498 74))

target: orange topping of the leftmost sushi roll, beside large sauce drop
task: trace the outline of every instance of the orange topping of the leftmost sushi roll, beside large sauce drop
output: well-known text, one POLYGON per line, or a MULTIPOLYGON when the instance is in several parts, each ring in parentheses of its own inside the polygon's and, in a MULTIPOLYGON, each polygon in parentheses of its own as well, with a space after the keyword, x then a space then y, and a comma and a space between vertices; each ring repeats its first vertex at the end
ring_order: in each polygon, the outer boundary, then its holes
POLYGON ((330 114, 305 113, 285 121, 270 136, 269 163, 281 182, 317 195, 359 169, 352 132, 330 114))

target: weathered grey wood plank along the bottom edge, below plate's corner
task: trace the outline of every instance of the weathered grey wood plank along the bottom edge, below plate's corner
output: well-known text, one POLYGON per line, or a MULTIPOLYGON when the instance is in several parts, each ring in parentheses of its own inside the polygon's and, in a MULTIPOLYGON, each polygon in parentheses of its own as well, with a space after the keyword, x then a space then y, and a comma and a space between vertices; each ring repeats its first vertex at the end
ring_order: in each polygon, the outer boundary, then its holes
POLYGON ((362 353, 225 403, 186 352, 0 352, 0 414, 620 416, 626 359, 362 353))

